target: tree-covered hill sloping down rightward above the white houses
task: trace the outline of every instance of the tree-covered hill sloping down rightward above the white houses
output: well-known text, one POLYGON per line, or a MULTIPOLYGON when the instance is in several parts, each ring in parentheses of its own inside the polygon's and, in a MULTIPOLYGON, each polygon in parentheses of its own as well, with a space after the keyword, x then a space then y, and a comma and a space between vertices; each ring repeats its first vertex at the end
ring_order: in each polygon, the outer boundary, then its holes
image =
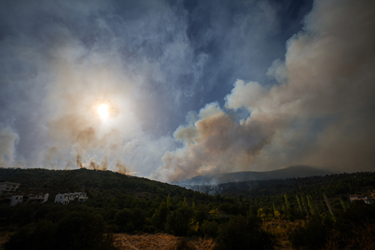
POLYGON ((184 187, 143 177, 130 176, 109 170, 80 168, 75 170, 50 170, 42 168, 0 168, 0 181, 17 182, 19 192, 48 192, 49 199, 57 193, 86 191, 90 194, 111 192, 131 194, 136 197, 154 195, 180 196, 207 199, 208 196, 184 187))

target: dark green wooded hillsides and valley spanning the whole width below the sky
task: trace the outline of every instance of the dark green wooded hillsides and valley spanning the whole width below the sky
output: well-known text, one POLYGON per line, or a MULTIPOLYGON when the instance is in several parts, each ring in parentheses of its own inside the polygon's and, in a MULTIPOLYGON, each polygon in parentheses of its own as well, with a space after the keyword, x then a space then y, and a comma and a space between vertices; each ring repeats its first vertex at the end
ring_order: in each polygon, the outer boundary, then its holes
POLYGON ((360 238, 353 228, 375 238, 374 205, 348 200, 350 193, 374 190, 374 175, 259 180, 248 189, 246 183, 227 183, 225 192, 209 195, 111 171, 0 168, 1 181, 21 183, 17 191, 50 194, 42 204, 8 206, 2 199, 0 227, 15 232, 5 249, 115 249, 113 232, 200 235, 215 238, 217 249, 272 249, 281 237, 294 248, 350 249, 345 247, 360 238), (75 191, 85 191, 88 199, 53 202, 55 194, 75 191), (282 221, 296 226, 280 227, 282 221), (272 223, 280 228, 269 230, 272 223), (60 235, 71 240, 56 245, 60 235))

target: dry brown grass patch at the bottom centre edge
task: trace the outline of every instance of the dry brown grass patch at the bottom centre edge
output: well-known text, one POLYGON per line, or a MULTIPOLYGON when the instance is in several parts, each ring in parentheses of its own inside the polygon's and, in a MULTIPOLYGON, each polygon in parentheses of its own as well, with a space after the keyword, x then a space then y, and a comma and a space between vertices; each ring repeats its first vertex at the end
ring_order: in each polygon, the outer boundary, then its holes
POLYGON ((213 239, 181 238, 166 233, 136 234, 126 233, 114 234, 119 249, 133 250, 182 250, 182 249, 204 249, 211 250, 215 245, 213 239))

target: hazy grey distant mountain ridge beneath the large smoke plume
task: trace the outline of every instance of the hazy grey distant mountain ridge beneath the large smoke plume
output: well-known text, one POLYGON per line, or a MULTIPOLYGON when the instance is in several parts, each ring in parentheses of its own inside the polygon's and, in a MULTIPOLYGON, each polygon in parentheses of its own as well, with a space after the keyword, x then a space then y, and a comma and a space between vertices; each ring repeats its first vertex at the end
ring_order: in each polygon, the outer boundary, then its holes
POLYGON ((334 172, 326 169, 320 169, 306 165, 291 165, 285 168, 271 170, 271 171, 241 171, 221 173, 217 175, 199 175, 190 179, 179 181, 177 185, 190 186, 190 185, 215 185, 227 182, 239 182, 248 180, 262 180, 262 179, 286 179, 297 177, 308 177, 313 175, 332 174, 334 172))

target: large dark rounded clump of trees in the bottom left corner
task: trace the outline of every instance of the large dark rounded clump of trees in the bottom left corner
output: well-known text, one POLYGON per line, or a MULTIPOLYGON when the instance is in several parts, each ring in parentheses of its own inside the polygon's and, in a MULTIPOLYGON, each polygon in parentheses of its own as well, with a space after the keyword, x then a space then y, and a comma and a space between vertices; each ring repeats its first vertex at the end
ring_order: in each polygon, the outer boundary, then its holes
POLYGON ((71 211, 57 222, 42 218, 21 227, 5 242, 4 248, 115 249, 111 235, 104 232, 104 221, 100 215, 71 211))

